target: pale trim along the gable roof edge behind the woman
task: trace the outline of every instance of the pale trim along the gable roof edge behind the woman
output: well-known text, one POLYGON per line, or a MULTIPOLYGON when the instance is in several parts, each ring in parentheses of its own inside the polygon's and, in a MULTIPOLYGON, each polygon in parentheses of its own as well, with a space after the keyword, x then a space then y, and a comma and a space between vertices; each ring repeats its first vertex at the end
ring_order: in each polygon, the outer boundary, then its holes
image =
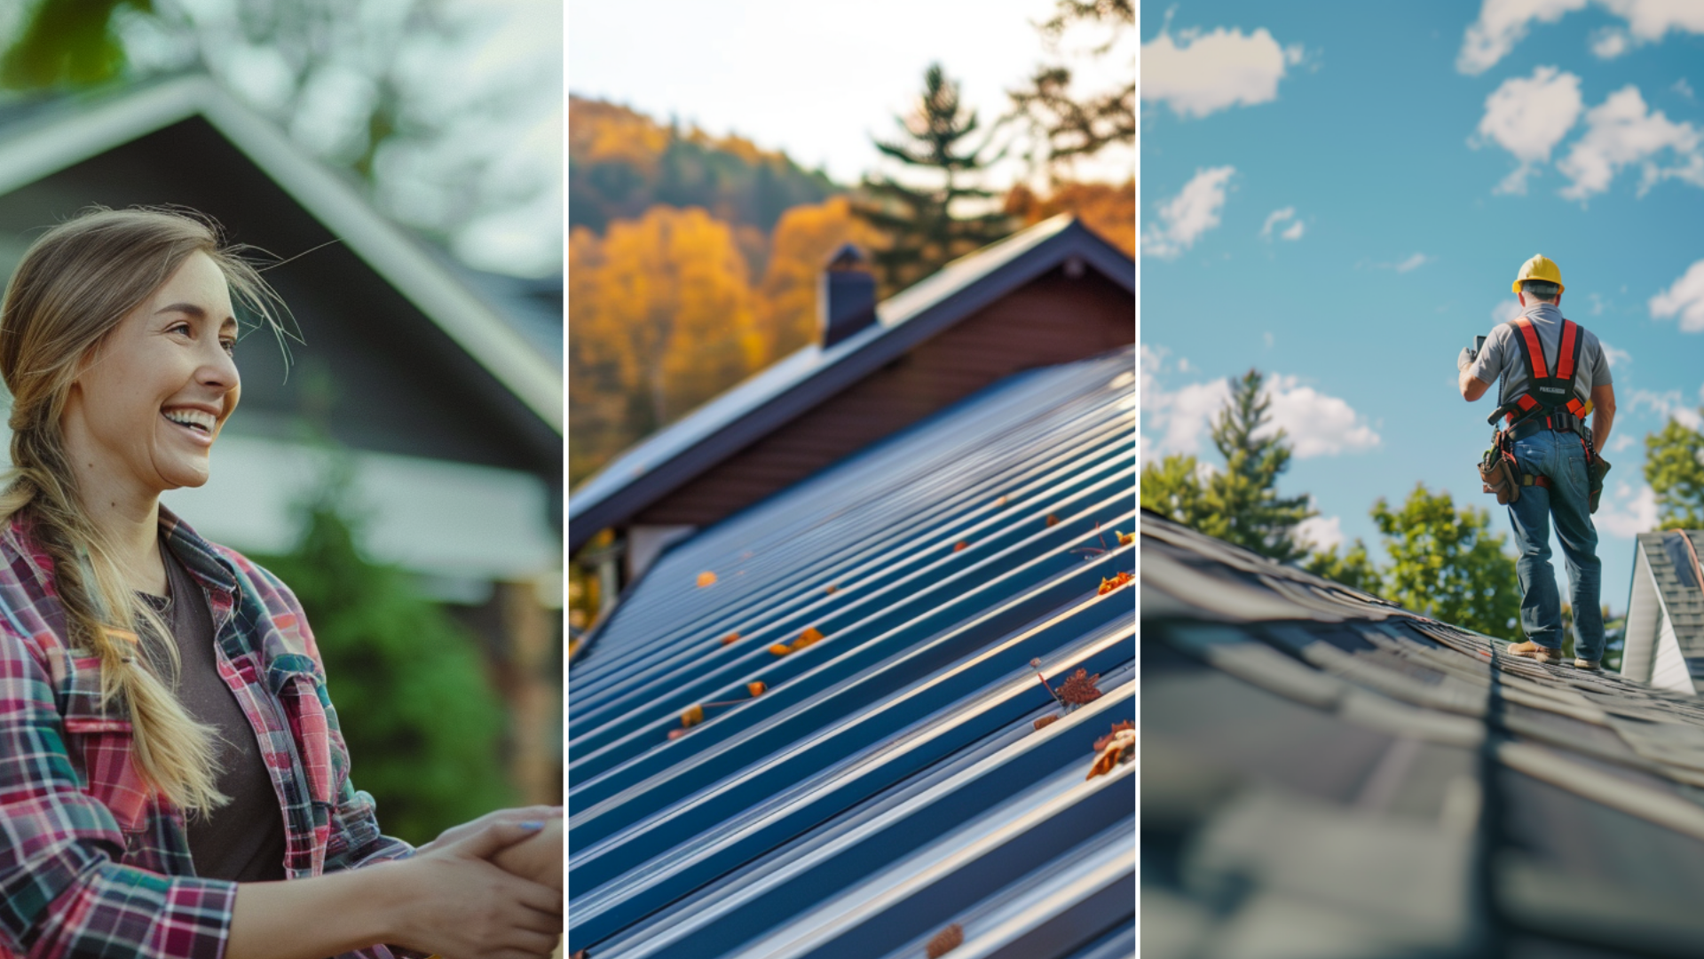
POLYGON ((561 435, 561 370, 349 183, 303 155, 208 77, 9 109, 0 137, 0 195, 193 116, 218 130, 561 435))

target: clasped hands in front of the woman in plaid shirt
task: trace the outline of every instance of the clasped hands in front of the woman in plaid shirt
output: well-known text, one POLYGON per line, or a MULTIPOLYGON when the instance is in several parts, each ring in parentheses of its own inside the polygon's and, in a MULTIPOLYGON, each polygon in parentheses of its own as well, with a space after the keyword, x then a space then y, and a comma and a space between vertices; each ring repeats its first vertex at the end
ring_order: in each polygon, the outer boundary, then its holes
POLYGON ((446 959, 550 956, 562 933, 562 892, 489 862, 501 850, 538 836, 540 829, 503 819, 472 833, 457 829, 460 840, 445 843, 446 831, 426 851, 373 867, 397 870, 395 879, 407 889, 395 932, 385 942, 446 959))

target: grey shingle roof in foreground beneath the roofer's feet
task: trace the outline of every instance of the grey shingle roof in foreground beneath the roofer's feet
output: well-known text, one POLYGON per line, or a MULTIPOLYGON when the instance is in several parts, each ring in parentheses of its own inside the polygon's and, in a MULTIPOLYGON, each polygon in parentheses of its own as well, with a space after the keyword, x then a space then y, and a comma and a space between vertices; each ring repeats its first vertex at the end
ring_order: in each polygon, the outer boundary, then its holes
POLYGON ((1143 939, 1678 956, 1704 703, 1142 515, 1143 939), (1600 952, 1609 949, 1609 952, 1600 952))

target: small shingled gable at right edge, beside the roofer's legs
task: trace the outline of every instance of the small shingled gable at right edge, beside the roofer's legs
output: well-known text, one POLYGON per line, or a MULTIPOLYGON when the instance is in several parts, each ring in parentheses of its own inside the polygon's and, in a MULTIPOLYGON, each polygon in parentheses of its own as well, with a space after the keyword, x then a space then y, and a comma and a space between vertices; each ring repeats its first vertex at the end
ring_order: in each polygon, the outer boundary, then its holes
POLYGON ((1689 693, 1704 686, 1704 584, 1694 551, 1704 553, 1704 531, 1638 534, 1626 647, 1629 674, 1689 693))

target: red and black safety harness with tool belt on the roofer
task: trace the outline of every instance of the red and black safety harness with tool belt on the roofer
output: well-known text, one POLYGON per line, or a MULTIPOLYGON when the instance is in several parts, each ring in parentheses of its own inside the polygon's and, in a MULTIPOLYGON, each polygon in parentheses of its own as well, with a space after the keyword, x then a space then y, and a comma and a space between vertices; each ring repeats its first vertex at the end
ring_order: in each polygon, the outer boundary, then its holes
POLYGON ((1585 338, 1580 326, 1563 321, 1561 348, 1556 352, 1556 369, 1544 362, 1544 346, 1539 343, 1539 329, 1527 317, 1510 321, 1515 328, 1515 343, 1527 362, 1527 391, 1496 408, 1486 423, 1501 428, 1491 433, 1491 449, 1486 450, 1479 466, 1481 480, 1488 493, 1496 493, 1498 503, 1511 503, 1520 498, 1518 486, 1549 488, 1549 476, 1522 473, 1515 461, 1515 442, 1527 439, 1539 430, 1574 433, 1586 452, 1586 476, 1592 480, 1590 509, 1597 512, 1598 493, 1602 493, 1602 474, 1609 464, 1600 462, 1592 449, 1592 432, 1586 416, 1592 415, 1592 401, 1581 401, 1574 394, 1574 375, 1580 369, 1580 350, 1585 338), (1515 488, 1510 488, 1515 486, 1515 488))

